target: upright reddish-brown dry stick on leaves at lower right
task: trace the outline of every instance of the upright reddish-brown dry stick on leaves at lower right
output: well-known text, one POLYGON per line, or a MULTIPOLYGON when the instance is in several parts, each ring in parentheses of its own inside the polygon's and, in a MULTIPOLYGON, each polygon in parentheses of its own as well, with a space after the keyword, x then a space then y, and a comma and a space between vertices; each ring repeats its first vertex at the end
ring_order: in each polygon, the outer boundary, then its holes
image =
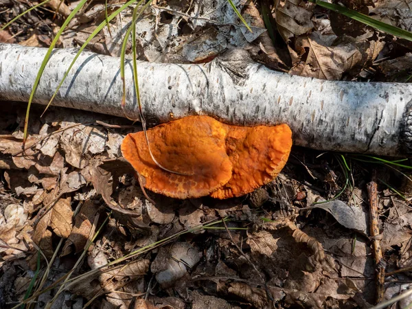
POLYGON ((376 263, 376 303, 380 303, 385 296, 385 261, 382 257, 379 240, 379 214, 378 214, 378 185, 376 175, 372 176, 372 181, 367 184, 369 195, 369 228, 372 244, 374 247, 374 257, 376 263))

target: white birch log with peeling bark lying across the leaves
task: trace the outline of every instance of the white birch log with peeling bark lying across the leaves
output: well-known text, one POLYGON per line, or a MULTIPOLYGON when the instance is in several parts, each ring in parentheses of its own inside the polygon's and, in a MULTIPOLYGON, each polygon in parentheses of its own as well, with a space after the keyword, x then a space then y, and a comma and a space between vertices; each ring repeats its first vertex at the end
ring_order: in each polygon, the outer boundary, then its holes
MULTIPOLYGON (((27 102, 47 49, 0 44, 0 100, 27 102)), ((56 49, 34 102, 47 104, 76 54, 56 49)), ((83 52, 54 105, 123 116, 119 58, 83 52)), ((233 49, 196 65, 139 62, 148 123, 210 115, 242 126, 286 123, 294 143, 319 150, 407 157, 412 152, 412 84, 341 82, 290 76, 233 49)), ((138 118, 126 65, 127 113, 138 118)))

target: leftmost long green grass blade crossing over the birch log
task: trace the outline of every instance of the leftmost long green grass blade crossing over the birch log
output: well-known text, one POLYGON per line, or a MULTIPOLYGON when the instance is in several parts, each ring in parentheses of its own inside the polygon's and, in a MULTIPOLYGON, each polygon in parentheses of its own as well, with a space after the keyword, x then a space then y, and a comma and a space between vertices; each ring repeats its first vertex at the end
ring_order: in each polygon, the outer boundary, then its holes
POLYGON ((67 19, 62 24, 62 26, 60 27, 60 30, 58 30, 56 36, 54 37, 54 39, 52 41, 52 44, 50 44, 50 47, 47 50, 47 53, 46 53, 45 58, 43 59, 43 62, 41 62, 41 66, 40 66, 40 69, 38 70, 36 80, 34 80, 32 93, 30 93, 29 102, 27 103, 27 111, 26 111, 25 121, 24 121, 23 149, 25 147, 25 141, 27 139, 27 128, 29 127, 30 106, 32 105, 34 95, 36 94, 36 90, 37 90, 37 87, 38 87, 38 83, 40 82, 40 78, 43 75, 43 71, 45 71, 45 67, 47 65, 47 62, 49 62, 49 59, 50 59, 50 56, 52 55, 54 46, 56 46, 56 43, 57 43, 58 39, 60 38, 60 35, 66 29, 67 25, 69 25, 71 19, 73 19, 73 17, 78 13, 78 11, 83 7, 84 3, 86 3, 86 2, 87 2, 87 0, 80 1, 80 3, 78 3, 78 5, 76 5, 76 8, 74 8, 73 11, 71 11, 71 13, 69 14, 69 16, 67 16, 67 19))

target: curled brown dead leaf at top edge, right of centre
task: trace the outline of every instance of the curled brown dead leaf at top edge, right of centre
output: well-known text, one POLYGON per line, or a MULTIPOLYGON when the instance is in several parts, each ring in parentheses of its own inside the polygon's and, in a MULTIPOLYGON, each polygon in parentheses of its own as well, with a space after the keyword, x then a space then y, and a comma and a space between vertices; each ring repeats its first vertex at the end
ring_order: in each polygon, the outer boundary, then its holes
POLYGON ((294 36, 308 34, 313 28, 310 6, 305 8, 304 5, 301 0, 279 1, 275 12, 277 30, 286 43, 294 36))

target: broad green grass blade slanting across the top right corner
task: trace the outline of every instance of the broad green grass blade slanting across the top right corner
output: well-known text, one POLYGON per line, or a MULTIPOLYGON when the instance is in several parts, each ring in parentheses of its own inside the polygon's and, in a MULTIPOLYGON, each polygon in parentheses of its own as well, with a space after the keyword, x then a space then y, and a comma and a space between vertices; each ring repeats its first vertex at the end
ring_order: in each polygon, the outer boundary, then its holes
POLYGON ((356 12, 354 10, 350 10, 348 8, 345 8, 342 5, 337 5, 334 3, 328 3, 325 1, 321 0, 311 0, 310 2, 316 3, 317 5, 320 5, 323 8, 327 8, 329 10, 332 10, 334 12, 338 12, 340 14, 343 14, 347 17, 350 17, 351 19, 354 19, 355 21, 360 21, 361 23, 364 23, 365 25, 369 25, 371 27, 376 28, 377 30, 380 30, 382 32, 385 32, 387 34, 392 34, 393 36, 398 36, 399 38, 404 38, 405 40, 412 41, 412 32, 409 32, 407 30, 403 30, 400 27, 395 27, 393 25, 389 25, 387 23, 383 23, 382 21, 378 21, 376 19, 373 19, 365 14, 361 14, 359 12, 356 12))

